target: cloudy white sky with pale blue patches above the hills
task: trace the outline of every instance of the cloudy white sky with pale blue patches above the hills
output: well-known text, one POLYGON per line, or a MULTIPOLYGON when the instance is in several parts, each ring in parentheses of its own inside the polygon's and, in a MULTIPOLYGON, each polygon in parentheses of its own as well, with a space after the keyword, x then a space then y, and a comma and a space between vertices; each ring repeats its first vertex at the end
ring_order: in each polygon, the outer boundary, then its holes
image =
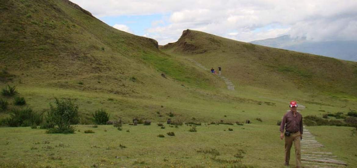
POLYGON ((110 26, 175 42, 186 29, 249 42, 357 40, 357 0, 71 0, 110 26))

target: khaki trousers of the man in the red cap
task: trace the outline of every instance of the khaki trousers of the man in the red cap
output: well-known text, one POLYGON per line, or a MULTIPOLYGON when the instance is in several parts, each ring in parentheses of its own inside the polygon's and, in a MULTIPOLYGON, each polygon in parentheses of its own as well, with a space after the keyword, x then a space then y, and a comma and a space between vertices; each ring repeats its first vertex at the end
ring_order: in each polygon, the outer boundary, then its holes
POLYGON ((296 167, 301 168, 301 151, 300 151, 300 132, 290 133, 290 136, 285 136, 285 163, 290 161, 290 149, 294 142, 296 167))

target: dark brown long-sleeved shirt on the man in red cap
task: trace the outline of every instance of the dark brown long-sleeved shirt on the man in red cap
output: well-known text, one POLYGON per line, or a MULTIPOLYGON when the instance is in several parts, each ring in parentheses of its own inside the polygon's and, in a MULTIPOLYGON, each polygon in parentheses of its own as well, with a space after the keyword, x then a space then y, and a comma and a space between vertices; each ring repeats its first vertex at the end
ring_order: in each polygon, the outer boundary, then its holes
POLYGON ((290 110, 288 111, 281 121, 280 124, 280 132, 284 132, 285 130, 288 132, 298 132, 302 134, 303 127, 302 127, 302 115, 299 112, 296 112, 296 117, 294 117, 293 112, 290 110), (285 125, 286 124, 286 125, 285 125))

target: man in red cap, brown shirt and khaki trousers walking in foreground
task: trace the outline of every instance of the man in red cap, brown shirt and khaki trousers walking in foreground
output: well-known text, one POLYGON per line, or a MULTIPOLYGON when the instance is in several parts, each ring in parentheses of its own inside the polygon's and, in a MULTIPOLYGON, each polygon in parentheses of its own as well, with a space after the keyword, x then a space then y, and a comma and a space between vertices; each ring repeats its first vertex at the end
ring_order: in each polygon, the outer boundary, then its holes
POLYGON ((285 137, 285 165, 289 165, 292 143, 295 147, 296 167, 301 168, 300 140, 302 139, 302 115, 297 112, 296 101, 290 102, 290 111, 284 116, 280 125, 280 139, 285 137), (285 133, 284 133, 285 128, 285 133))

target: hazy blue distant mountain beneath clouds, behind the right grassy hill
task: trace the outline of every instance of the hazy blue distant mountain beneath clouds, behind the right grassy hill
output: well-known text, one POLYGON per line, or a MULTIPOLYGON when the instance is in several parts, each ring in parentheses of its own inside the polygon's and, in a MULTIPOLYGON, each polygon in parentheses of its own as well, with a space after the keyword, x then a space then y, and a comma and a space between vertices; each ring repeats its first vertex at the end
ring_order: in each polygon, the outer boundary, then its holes
POLYGON ((308 41, 304 37, 291 38, 290 35, 284 35, 276 38, 251 41, 250 43, 345 59, 348 61, 357 61, 357 41, 314 42, 308 41))

